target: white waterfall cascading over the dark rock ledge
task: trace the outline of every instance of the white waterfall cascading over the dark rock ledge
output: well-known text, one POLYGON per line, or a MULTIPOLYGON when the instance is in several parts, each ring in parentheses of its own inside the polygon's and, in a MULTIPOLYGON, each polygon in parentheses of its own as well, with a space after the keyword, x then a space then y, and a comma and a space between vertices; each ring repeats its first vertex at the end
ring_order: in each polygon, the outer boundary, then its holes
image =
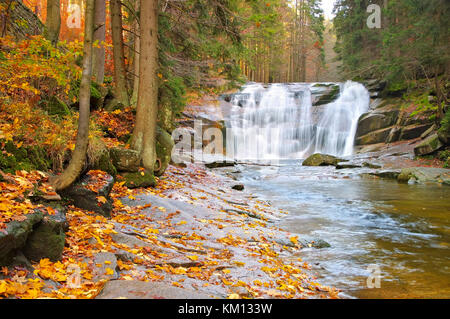
POLYGON ((313 153, 353 152, 359 117, 369 92, 359 83, 341 86, 325 109, 312 106, 312 84, 249 84, 232 100, 231 133, 238 160, 301 159, 313 153))

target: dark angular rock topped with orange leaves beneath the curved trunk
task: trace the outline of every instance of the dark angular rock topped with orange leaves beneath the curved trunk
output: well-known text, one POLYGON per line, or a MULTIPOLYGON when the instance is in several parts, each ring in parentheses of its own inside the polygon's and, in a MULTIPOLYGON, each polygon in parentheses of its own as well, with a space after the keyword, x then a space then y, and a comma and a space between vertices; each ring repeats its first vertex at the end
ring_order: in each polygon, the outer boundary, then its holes
POLYGON ((83 175, 80 181, 62 191, 61 195, 71 200, 78 208, 110 217, 113 206, 109 194, 114 186, 114 177, 106 173, 98 176, 93 172, 83 175), (106 201, 100 201, 99 197, 106 201))

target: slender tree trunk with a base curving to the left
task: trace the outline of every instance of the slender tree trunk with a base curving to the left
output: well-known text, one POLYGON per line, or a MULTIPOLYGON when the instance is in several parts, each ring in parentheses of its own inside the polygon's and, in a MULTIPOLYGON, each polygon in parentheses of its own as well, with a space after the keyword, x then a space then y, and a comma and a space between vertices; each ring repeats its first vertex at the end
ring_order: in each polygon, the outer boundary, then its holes
POLYGON ((50 182, 55 190, 64 190, 78 178, 86 162, 89 145, 89 113, 92 76, 92 38, 94 33, 94 0, 86 0, 85 37, 83 49, 83 73, 80 86, 80 115, 75 150, 69 166, 50 182))

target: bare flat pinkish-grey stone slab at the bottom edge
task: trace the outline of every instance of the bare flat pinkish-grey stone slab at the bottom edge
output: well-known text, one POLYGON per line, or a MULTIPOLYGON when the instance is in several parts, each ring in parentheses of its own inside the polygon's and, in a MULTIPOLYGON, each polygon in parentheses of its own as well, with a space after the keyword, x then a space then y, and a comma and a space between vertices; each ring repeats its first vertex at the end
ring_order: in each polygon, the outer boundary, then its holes
POLYGON ((162 282, 114 280, 105 284, 96 299, 211 299, 214 297, 162 282))

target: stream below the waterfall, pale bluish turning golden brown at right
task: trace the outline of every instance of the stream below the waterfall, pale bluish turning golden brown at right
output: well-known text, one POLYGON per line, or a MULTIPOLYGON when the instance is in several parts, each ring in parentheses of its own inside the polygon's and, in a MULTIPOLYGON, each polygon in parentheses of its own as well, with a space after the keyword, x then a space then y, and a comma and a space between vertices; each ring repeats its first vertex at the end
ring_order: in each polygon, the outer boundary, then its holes
POLYGON ((280 227, 331 244, 299 255, 343 297, 450 298, 450 187, 298 162, 240 170, 247 189, 290 212, 280 227), (369 265, 381 271, 380 288, 367 287, 369 265))

